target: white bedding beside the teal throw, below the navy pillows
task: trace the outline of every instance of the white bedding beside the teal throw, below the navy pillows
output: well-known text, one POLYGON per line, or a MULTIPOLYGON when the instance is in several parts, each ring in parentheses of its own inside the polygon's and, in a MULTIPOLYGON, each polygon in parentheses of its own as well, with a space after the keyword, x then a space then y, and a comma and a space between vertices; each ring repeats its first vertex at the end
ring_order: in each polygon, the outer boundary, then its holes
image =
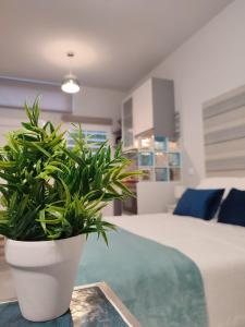
POLYGON ((209 326, 245 327, 245 228, 171 214, 107 220, 192 258, 203 276, 209 326))

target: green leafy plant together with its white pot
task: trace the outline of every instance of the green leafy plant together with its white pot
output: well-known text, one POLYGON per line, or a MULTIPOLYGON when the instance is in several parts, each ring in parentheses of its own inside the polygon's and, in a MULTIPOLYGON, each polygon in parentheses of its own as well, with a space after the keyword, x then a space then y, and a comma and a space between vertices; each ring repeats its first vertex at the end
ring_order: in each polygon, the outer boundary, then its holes
POLYGON ((132 195, 124 181, 138 172, 124 171, 120 146, 113 156, 107 143, 93 150, 79 126, 69 148, 66 132, 38 122, 38 100, 25 111, 28 122, 0 149, 0 234, 23 316, 44 322, 68 311, 86 237, 108 242, 115 227, 101 209, 132 195))

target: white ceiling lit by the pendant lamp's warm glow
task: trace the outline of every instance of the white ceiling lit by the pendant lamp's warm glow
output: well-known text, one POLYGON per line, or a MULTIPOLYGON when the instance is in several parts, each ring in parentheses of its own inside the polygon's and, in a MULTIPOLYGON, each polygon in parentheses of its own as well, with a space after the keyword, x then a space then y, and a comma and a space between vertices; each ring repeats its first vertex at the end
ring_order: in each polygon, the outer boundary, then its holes
POLYGON ((231 0, 0 0, 0 75, 126 90, 231 0))

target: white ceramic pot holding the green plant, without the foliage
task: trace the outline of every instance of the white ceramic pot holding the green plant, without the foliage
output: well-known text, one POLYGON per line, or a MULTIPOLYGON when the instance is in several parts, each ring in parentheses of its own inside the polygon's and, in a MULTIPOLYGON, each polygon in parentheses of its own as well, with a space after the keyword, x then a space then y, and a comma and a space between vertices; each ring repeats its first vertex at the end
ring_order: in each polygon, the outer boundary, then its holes
POLYGON ((7 240, 23 316, 32 322, 54 319, 70 306, 85 235, 57 241, 7 240))

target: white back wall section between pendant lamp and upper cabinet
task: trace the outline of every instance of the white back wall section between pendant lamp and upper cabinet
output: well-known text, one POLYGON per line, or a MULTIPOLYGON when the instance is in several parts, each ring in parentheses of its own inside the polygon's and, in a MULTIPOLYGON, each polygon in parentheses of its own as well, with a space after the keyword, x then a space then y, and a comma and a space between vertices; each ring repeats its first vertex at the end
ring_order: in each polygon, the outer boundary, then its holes
POLYGON ((117 126, 124 97, 122 92, 82 86, 81 92, 73 96, 73 114, 110 118, 117 126))

